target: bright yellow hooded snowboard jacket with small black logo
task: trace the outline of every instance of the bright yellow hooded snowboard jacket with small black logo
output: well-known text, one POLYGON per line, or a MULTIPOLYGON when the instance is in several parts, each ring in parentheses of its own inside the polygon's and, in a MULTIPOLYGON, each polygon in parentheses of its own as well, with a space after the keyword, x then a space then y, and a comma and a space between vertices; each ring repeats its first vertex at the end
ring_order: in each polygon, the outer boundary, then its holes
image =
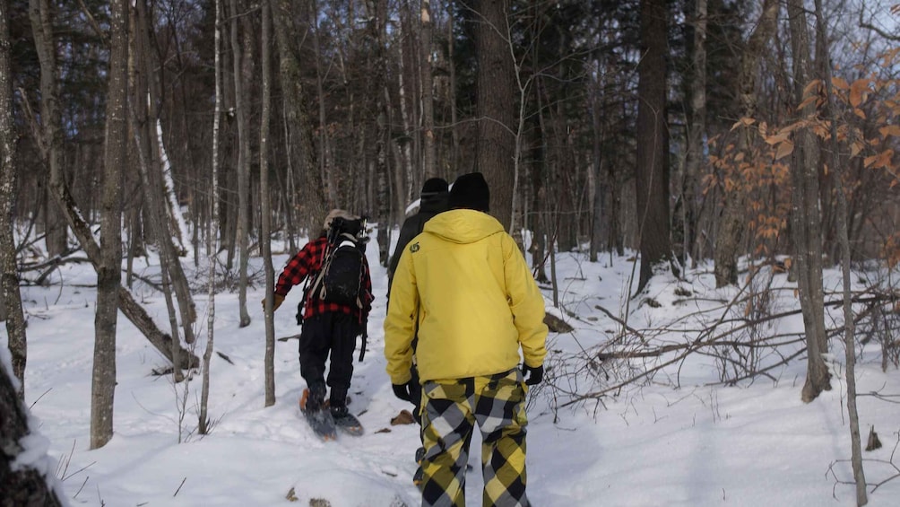
POLYGON ((515 240, 487 213, 439 213, 407 245, 384 319, 393 384, 410 380, 412 341, 421 382, 539 367, 547 353, 544 297, 515 240), (418 316, 418 322, 416 318, 418 316))

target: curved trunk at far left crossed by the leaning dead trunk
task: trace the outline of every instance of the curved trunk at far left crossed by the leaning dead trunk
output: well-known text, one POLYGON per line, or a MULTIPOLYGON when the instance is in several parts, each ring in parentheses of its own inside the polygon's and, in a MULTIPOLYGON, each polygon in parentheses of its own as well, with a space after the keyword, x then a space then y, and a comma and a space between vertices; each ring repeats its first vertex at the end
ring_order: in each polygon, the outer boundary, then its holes
MULTIPOLYGON (((53 37, 53 12, 49 0, 29 0, 28 15, 34 47, 40 61, 40 123, 42 140, 38 143, 49 167, 49 191, 63 181, 62 112, 59 104, 59 69, 56 41, 53 37)), ((66 221, 58 208, 46 207, 47 253, 55 257, 66 251, 66 221)))

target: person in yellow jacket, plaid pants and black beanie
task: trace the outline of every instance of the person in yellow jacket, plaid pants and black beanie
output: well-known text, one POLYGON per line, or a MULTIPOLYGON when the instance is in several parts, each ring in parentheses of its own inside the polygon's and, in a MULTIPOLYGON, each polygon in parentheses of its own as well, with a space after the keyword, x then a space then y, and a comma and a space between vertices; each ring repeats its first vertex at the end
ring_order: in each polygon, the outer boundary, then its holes
POLYGON ((544 376, 544 297, 515 240, 488 214, 490 199, 481 173, 458 177, 450 211, 410 241, 391 287, 384 356, 394 393, 407 401, 418 327, 423 506, 465 506, 476 422, 483 505, 528 505, 525 394, 544 376))

